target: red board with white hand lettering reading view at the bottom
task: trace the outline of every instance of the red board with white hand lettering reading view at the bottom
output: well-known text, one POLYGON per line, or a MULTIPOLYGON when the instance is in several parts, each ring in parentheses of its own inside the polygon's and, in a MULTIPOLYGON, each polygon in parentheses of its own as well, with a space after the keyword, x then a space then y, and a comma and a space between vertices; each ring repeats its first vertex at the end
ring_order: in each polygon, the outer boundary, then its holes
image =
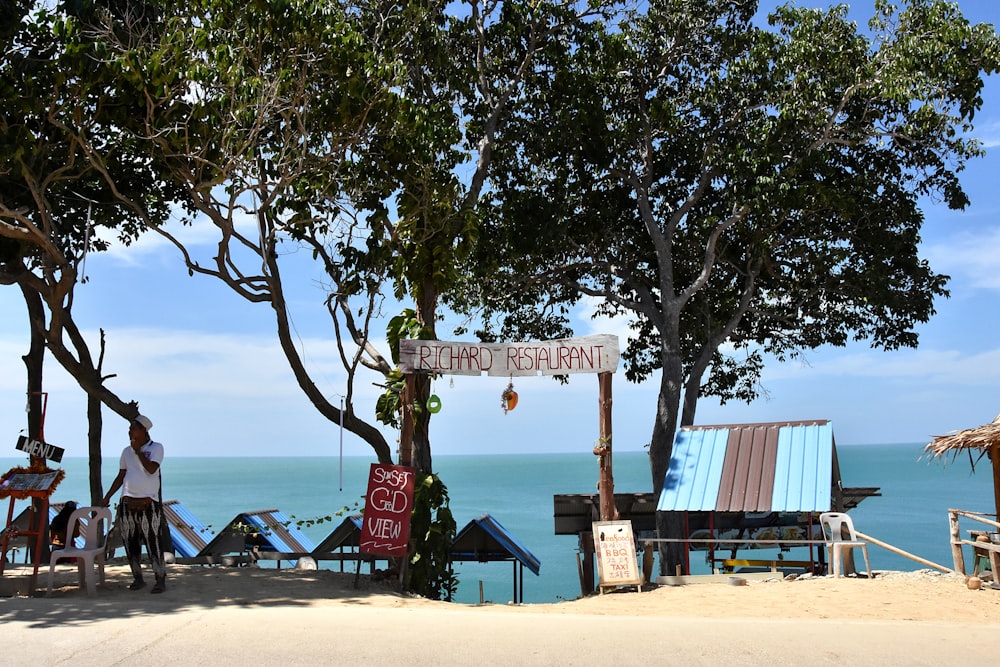
POLYGON ((373 463, 368 474, 360 550, 380 556, 405 556, 410 541, 414 470, 373 463))

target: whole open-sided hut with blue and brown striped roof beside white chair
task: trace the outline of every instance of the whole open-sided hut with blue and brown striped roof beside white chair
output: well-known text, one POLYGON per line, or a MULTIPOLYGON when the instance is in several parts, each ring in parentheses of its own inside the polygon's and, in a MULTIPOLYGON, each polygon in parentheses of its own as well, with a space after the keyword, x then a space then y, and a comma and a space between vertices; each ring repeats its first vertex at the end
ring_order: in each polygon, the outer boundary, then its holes
POLYGON ((674 539, 685 542, 688 556, 708 550, 713 566, 812 568, 813 543, 822 540, 818 515, 846 512, 873 495, 877 488, 844 487, 828 420, 685 426, 674 439, 657 512, 680 513, 685 536, 674 539), (808 547, 808 560, 736 558, 740 549, 792 546, 808 547), (727 548, 729 558, 715 558, 727 548))

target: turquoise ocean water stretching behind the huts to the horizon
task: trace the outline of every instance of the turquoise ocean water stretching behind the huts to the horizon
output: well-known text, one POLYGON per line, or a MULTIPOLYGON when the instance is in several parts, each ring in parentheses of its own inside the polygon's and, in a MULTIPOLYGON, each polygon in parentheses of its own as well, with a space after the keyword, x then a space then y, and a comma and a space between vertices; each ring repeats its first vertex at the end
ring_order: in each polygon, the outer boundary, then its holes
MULTIPOLYGON (((840 445, 844 486, 877 486, 881 496, 851 511, 856 528, 867 535, 940 565, 951 567, 949 508, 993 512, 992 473, 985 458, 973 474, 968 458, 920 460, 919 444, 840 445)), ((279 509, 296 520, 330 520, 302 531, 319 543, 342 521, 338 512, 357 511, 364 500, 371 459, 309 458, 168 458, 164 462, 164 498, 181 501, 213 531, 241 512, 279 509)), ((580 595, 577 540, 555 535, 552 496, 596 493, 597 458, 591 453, 437 456, 437 473, 447 485, 458 528, 490 514, 541 561, 539 576, 524 574, 525 602, 554 602, 580 595)), ((24 465, 23 458, 0 458, 0 471, 24 465)), ((66 479, 55 502, 89 498, 87 461, 66 458, 66 479)), ((104 461, 104 486, 117 474, 117 457, 104 461)), ((645 452, 614 455, 615 491, 648 492, 652 485, 645 452)), ((20 512, 24 503, 15 507, 20 512)), ((4 506, 6 509, 6 505, 4 506)), ((965 526, 963 523, 963 529, 965 526)), ((925 566, 870 545, 875 570, 917 570, 925 566)), ((692 552, 695 573, 708 572, 704 552, 692 552)), ((757 554, 754 554, 756 556, 757 554)), ((761 554, 763 555, 763 554, 761 554)), ((790 556, 794 557, 794 556, 790 556)), ((966 554, 967 565, 971 565, 966 554)), ((859 560, 859 565, 861 561, 859 560)), ((330 567, 339 567, 330 565, 330 567)), ((456 563, 457 601, 512 599, 510 563, 456 563)))

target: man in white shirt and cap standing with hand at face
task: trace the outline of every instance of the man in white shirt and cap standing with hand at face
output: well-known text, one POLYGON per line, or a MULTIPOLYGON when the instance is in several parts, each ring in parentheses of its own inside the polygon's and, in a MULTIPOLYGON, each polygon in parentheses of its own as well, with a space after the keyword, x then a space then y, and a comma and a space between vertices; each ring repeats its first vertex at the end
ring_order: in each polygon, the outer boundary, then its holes
POLYGON ((129 446, 122 451, 118 476, 102 502, 107 507, 111 497, 122 489, 122 501, 116 521, 125 542, 125 555, 134 581, 129 590, 137 591, 146 585, 142 578, 142 545, 146 545, 156 584, 153 593, 167 589, 167 568, 160 546, 160 524, 165 521, 160 505, 160 463, 163 462, 163 445, 153 442, 149 430, 153 422, 149 417, 137 416, 129 424, 129 446))

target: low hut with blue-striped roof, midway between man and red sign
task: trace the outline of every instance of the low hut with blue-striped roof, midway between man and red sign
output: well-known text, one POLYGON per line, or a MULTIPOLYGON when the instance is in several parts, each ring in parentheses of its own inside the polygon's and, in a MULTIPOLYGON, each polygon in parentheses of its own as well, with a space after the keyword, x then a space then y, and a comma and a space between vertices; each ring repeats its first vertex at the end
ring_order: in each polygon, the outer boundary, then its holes
POLYGON ((277 509, 241 512, 209 541, 199 557, 217 562, 226 554, 246 554, 251 560, 281 561, 292 565, 316 549, 305 533, 293 525, 288 516, 277 509))

